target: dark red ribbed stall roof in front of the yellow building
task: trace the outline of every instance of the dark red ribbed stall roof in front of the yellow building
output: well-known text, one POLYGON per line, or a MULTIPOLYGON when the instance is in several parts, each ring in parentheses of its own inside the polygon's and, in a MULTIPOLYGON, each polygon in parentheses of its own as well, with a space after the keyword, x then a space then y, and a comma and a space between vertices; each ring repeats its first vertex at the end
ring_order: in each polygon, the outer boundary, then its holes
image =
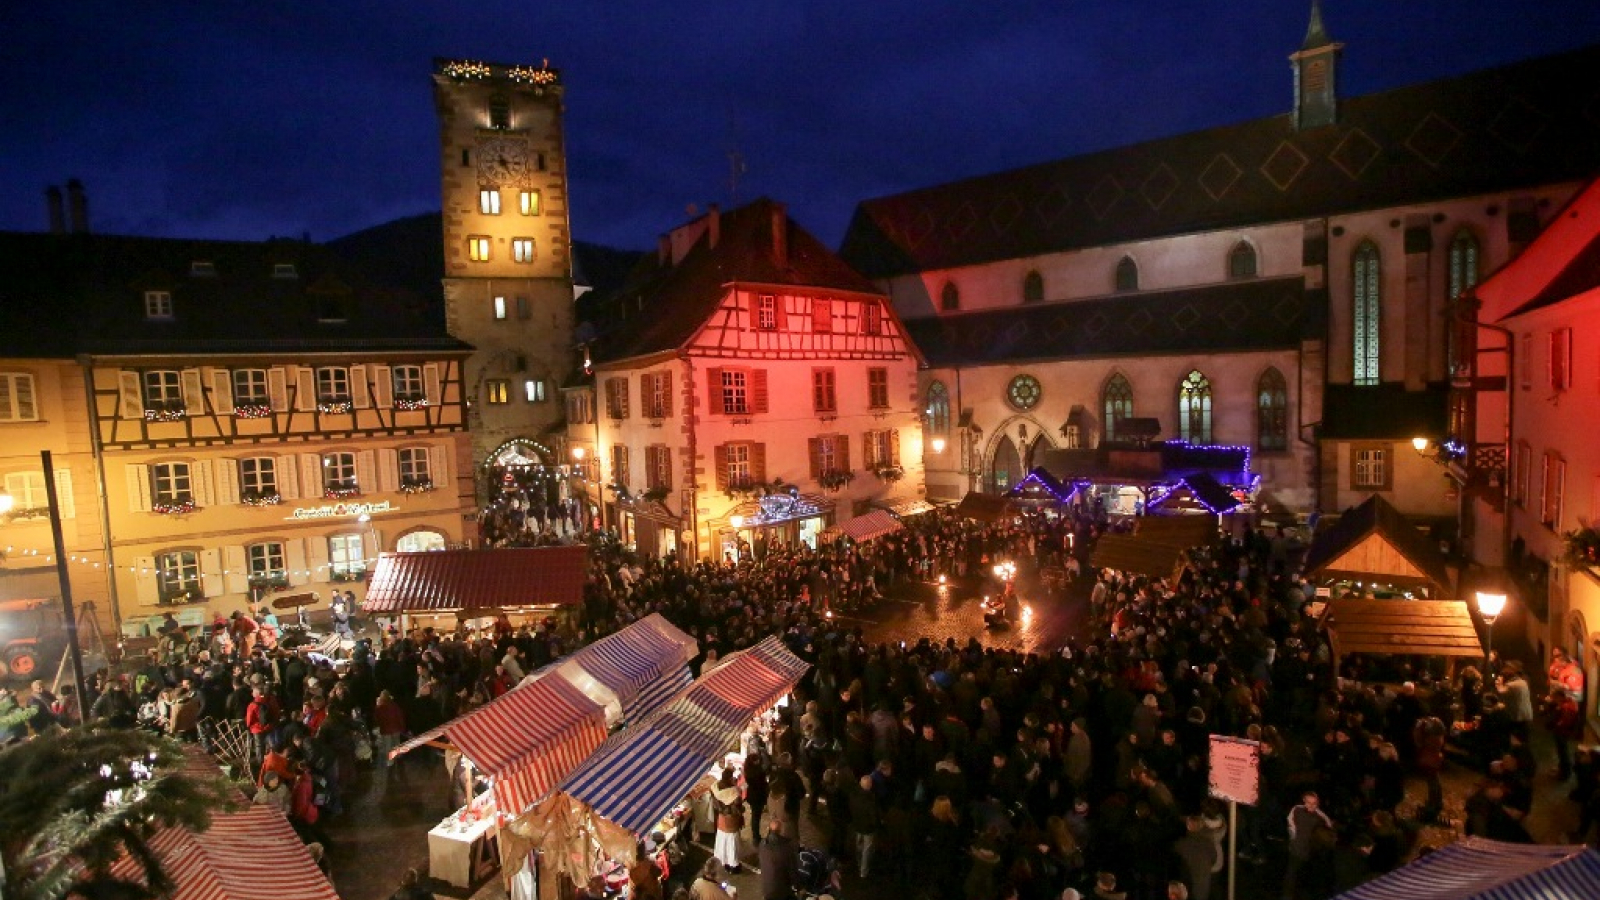
POLYGON ((362 609, 371 613, 578 605, 589 548, 445 549, 378 556, 362 609))

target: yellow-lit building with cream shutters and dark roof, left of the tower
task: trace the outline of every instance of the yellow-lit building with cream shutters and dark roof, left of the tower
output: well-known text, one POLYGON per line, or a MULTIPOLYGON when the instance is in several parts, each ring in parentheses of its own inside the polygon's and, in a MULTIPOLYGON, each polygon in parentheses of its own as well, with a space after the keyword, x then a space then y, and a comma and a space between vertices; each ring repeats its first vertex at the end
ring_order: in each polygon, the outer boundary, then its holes
MULTIPOLYGON (((51 312, 0 319, 14 325, 0 476, 37 511, 38 450, 56 453, 74 593, 109 599, 115 621, 280 593, 325 607, 363 593, 379 551, 469 538, 470 346, 446 336, 437 298, 376 288, 296 240, 6 234, 0 255, 27 261, 51 312)), ((50 546, 38 522, 5 525, 5 596, 56 593, 18 565, 50 546)))

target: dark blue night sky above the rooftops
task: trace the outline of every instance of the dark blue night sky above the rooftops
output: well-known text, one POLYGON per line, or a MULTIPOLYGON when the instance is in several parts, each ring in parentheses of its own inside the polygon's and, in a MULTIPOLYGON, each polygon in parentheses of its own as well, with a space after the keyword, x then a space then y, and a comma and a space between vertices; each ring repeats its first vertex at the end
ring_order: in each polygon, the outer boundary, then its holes
MULTIPOLYGON (((576 237, 858 200, 1285 112, 1309 0, 67 0, 0 10, 0 231, 325 240, 438 208, 434 56, 549 58, 576 237)), ((1600 42, 1597 0, 1326 0, 1344 96, 1600 42)), ((1552 85, 1558 90, 1558 85, 1552 85)), ((1600 112, 1597 112, 1600 114, 1600 112)), ((1600 160, 1597 160, 1600 167, 1600 160)))

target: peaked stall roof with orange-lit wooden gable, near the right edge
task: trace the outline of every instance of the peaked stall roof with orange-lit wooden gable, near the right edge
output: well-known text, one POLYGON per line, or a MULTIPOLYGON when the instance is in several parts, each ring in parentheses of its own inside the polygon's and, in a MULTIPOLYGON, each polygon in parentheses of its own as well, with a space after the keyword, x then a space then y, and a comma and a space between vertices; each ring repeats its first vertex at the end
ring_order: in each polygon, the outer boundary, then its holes
POLYGON ((1435 597, 1454 593, 1445 554, 1376 493, 1317 530, 1306 552, 1306 577, 1422 585, 1435 597))

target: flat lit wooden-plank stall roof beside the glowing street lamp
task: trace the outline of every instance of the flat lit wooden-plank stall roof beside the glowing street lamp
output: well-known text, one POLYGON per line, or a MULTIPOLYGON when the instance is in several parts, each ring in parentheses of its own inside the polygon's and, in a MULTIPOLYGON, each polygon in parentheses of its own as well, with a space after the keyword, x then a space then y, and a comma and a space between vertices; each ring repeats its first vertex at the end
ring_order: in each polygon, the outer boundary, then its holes
POLYGON ((1483 655, 1472 613, 1461 601, 1328 601, 1322 621, 1328 628, 1334 657, 1483 655))

